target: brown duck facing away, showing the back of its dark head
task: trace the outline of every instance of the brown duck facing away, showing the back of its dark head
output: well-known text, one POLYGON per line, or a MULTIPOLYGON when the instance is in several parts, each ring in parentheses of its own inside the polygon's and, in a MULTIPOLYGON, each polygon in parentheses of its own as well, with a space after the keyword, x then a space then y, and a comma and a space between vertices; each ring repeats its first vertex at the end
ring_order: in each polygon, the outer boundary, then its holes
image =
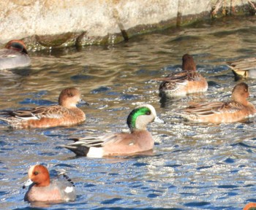
POLYGON ((185 96, 189 93, 206 92, 208 83, 201 74, 197 73, 195 61, 191 55, 183 55, 182 70, 164 78, 154 79, 162 81, 159 86, 160 96, 185 96))

